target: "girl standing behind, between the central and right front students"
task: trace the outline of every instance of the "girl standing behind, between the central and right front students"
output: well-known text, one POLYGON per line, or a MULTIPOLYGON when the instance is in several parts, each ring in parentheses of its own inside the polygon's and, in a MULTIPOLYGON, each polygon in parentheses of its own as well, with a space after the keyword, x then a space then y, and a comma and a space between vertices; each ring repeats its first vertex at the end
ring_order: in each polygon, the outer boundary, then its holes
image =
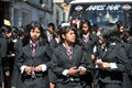
MULTIPOLYGON (((79 37, 79 45, 82 46, 82 50, 89 55, 89 58, 95 62, 96 57, 95 57, 95 46, 98 45, 99 40, 98 36, 96 34, 91 33, 91 24, 89 21, 82 21, 81 22, 81 34, 79 37)), ((94 76, 94 72, 87 73, 84 77, 82 77, 82 81, 84 81, 84 88, 90 88, 92 85, 92 76, 94 76), (87 78, 87 79, 86 79, 87 78)))

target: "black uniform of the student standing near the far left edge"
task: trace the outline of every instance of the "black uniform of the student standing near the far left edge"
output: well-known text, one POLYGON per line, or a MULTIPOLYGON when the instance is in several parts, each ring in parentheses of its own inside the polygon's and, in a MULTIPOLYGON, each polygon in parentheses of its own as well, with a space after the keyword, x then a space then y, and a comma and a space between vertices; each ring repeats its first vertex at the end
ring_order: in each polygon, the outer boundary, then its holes
POLYGON ((12 76, 13 64, 14 64, 13 46, 14 46, 14 42, 12 41, 12 38, 10 38, 10 40, 7 38, 7 53, 6 53, 6 56, 2 62, 3 62, 3 73, 9 72, 10 76, 7 76, 4 74, 6 88, 11 87, 11 76, 12 76))

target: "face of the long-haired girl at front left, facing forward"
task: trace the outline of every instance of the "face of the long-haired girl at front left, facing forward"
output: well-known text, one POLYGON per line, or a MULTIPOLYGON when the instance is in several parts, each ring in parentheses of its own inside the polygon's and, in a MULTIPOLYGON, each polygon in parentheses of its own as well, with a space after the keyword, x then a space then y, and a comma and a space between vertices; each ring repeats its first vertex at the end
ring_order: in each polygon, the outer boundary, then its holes
POLYGON ((32 29, 30 31, 30 35, 31 40, 35 43, 41 36, 41 31, 38 30, 38 28, 32 29))

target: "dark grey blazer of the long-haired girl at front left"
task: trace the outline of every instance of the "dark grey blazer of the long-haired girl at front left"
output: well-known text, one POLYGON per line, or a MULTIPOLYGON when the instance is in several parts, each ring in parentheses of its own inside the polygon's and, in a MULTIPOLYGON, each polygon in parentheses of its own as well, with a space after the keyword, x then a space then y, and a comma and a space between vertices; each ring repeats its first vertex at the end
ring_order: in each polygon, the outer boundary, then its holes
MULTIPOLYGON (((19 54, 18 58, 15 59, 16 66, 19 69, 21 66, 38 66, 41 64, 45 64, 47 68, 51 66, 50 58, 47 58, 47 46, 37 44, 35 50, 35 56, 32 56, 32 48, 31 45, 28 44, 22 47, 21 54, 19 54)), ((45 72, 44 72, 45 73, 45 72)), ((43 73, 36 73, 36 76, 42 76, 43 73)))

